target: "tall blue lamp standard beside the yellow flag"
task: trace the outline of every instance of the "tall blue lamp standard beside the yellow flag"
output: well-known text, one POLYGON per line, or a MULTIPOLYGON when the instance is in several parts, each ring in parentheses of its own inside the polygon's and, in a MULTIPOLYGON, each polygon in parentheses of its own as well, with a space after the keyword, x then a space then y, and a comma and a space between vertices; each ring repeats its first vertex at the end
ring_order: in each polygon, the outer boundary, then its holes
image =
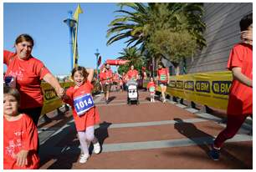
POLYGON ((74 67, 74 58, 73 58, 73 41, 72 41, 72 33, 73 33, 73 28, 75 26, 76 21, 72 19, 72 11, 68 12, 68 18, 64 19, 64 23, 66 23, 69 27, 69 44, 70 44, 70 59, 71 59, 71 71, 74 67))

